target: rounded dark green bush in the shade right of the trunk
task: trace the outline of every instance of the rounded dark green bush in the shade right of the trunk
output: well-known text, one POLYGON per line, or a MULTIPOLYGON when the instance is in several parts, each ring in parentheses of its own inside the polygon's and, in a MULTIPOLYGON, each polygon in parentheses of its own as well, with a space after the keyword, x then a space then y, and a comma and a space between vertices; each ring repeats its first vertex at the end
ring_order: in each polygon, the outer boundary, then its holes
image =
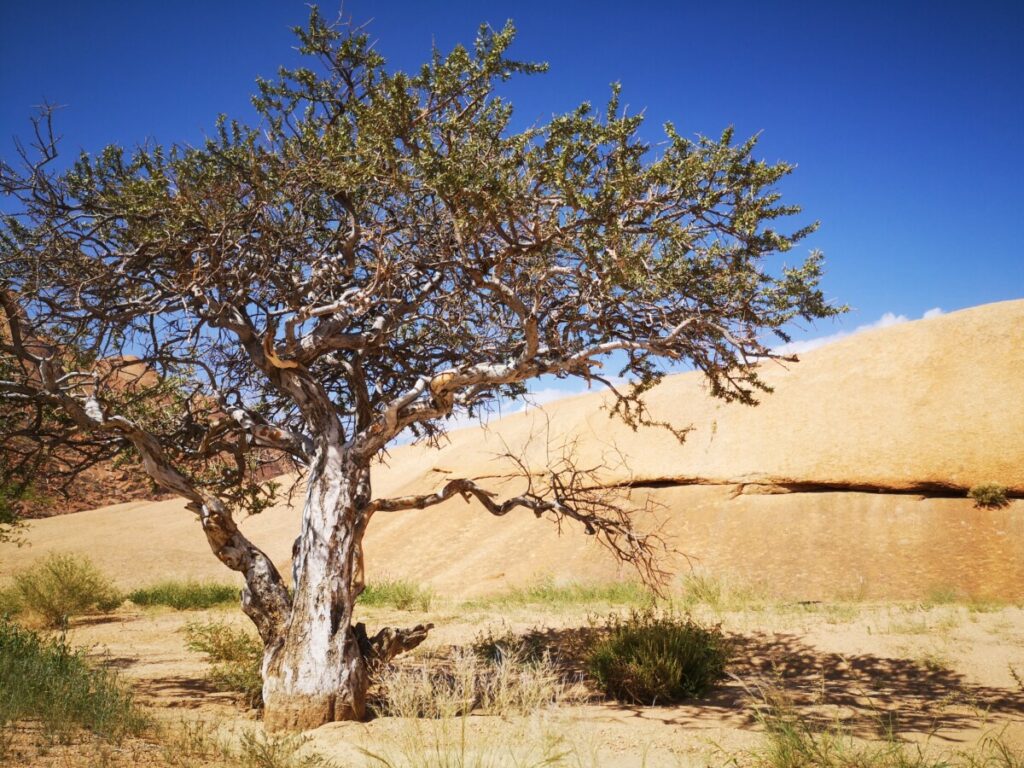
POLYGON ((722 677, 729 642, 717 627, 653 609, 612 616, 587 667, 604 693, 630 703, 668 705, 702 694, 722 677))

